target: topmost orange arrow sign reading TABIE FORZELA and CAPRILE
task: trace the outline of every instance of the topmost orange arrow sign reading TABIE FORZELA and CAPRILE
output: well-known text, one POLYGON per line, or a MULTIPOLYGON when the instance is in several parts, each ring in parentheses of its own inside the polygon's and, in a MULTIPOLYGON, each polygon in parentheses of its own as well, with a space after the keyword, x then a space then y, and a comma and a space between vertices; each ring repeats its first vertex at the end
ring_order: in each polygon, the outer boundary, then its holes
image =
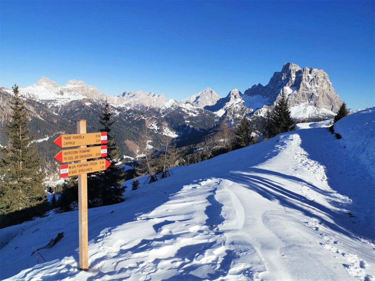
POLYGON ((61 135, 53 141, 60 147, 107 143, 107 133, 61 135))

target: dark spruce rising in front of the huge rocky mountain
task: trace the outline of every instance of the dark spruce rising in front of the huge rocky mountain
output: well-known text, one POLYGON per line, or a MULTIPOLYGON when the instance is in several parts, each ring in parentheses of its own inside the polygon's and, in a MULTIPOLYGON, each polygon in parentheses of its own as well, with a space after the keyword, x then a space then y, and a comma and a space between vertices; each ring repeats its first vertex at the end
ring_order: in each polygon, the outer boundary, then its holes
POLYGON ((265 136, 267 138, 273 138, 281 133, 293 130, 294 121, 288 108, 287 96, 284 93, 273 111, 267 113, 266 124, 265 136))

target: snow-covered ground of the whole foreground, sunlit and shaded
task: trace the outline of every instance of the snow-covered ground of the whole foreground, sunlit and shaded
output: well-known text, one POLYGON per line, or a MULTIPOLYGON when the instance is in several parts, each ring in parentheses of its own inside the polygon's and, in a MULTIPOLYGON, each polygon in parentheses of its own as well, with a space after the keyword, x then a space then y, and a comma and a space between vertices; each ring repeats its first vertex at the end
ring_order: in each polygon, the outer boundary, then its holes
MULTIPOLYGON (((374 111, 359 114, 374 120, 374 111)), ((356 132, 374 143, 374 126, 355 115, 339 122, 341 140, 326 128, 284 133, 89 209, 87 272, 77 266, 77 211, 1 229, 0 278, 371 280, 375 179, 344 142, 356 132), (38 265, 33 247, 58 232, 38 265)))

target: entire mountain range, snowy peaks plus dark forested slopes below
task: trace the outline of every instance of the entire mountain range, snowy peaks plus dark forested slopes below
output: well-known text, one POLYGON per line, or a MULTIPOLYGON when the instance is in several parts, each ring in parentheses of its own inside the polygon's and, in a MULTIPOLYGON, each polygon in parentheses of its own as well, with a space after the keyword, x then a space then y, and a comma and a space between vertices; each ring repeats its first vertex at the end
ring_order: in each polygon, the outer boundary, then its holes
MULTIPOLYGON (((19 91, 29 100, 29 127, 37 140, 52 139, 57 132, 74 132, 72 124, 80 118, 90 120, 91 131, 97 130, 98 116, 107 99, 116 118, 114 134, 120 153, 130 157, 136 157, 139 128, 144 126, 145 120, 154 124, 160 134, 165 131, 162 128, 166 128, 171 134, 178 135, 178 144, 184 146, 202 141, 222 120, 236 126, 246 115, 255 121, 253 124, 261 124, 258 121, 282 93, 287 94, 292 115, 297 119, 332 118, 341 104, 326 72, 300 68, 293 63, 284 64, 266 86, 254 85, 243 93, 233 89, 223 98, 211 88, 181 102, 168 100, 163 94, 142 91, 124 91, 118 96, 109 96, 81 80, 69 80, 62 86, 46 77, 31 86, 19 88, 19 91)), ((0 104, 0 123, 9 117, 7 100, 11 95, 12 89, 0 88, 0 101, 4 101, 0 104)), ((0 132, 0 145, 6 143, 7 138, 0 132)), ((47 141, 38 143, 40 153, 50 151, 49 145, 47 141)), ((51 155, 47 152, 45 163, 49 165, 51 155)))

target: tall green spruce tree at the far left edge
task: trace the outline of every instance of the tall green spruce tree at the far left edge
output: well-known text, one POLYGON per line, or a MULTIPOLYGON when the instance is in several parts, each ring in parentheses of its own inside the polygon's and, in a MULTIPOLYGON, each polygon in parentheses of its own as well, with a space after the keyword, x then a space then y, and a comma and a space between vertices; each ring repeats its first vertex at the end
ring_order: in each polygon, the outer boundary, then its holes
POLYGON ((30 220, 46 211, 46 194, 42 182, 42 160, 32 144, 35 136, 29 136, 25 102, 20 98, 18 86, 14 85, 10 101, 10 121, 5 130, 9 136, 6 147, 1 147, 0 159, 0 215, 1 225, 11 225, 30 220))

